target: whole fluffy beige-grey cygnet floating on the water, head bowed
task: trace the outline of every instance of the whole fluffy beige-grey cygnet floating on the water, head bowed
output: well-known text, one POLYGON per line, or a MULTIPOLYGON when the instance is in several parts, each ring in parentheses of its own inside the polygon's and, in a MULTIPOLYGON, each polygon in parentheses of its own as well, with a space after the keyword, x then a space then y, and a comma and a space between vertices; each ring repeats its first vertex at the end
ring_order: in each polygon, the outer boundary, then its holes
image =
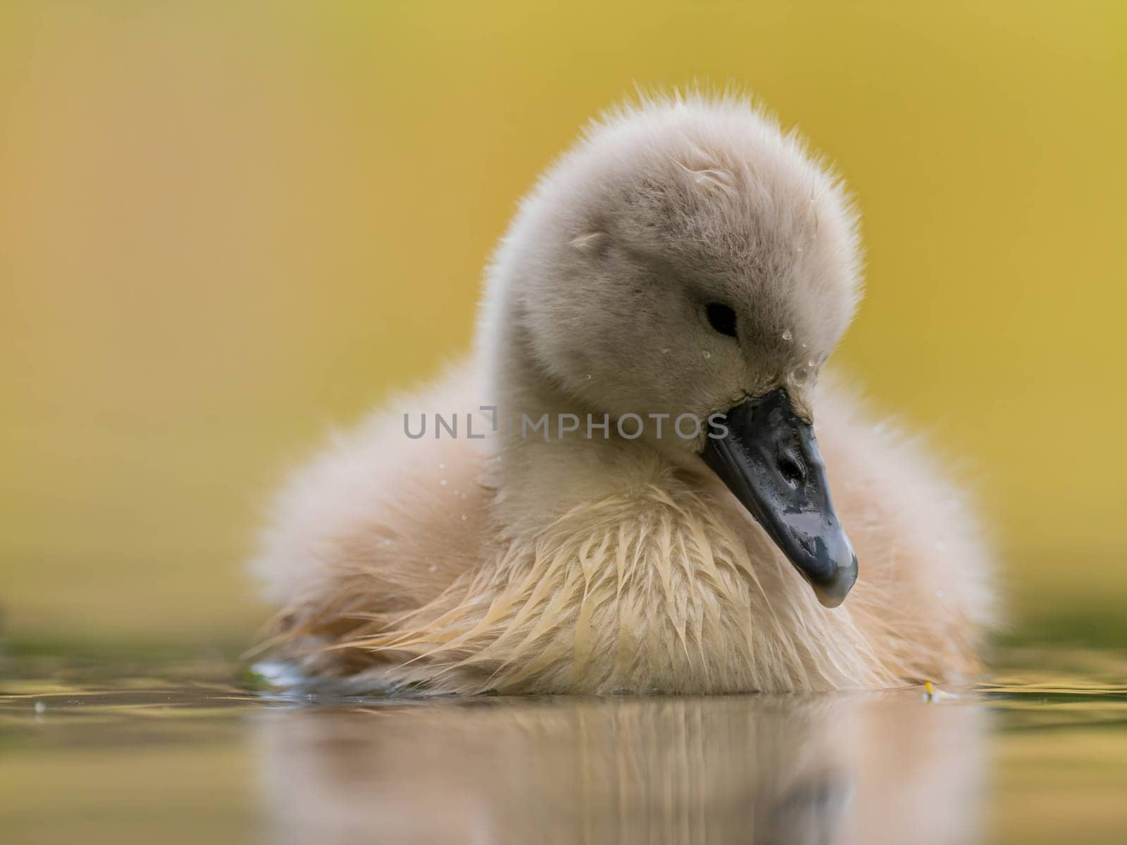
POLYGON ((256 561, 276 649, 353 688, 454 693, 968 676, 976 525, 817 384, 858 252, 838 181, 746 101, 593 125, 521 205, 470 359, 283 490, 256 561), (423 412, 446 426, 418 437, 423 412))

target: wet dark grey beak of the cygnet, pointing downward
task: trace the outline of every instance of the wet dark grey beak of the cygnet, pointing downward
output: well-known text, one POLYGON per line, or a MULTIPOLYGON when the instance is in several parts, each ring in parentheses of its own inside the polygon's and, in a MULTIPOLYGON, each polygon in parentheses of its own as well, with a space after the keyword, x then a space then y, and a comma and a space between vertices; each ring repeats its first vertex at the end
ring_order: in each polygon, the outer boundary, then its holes
POLYGON ((701 456, 818 601, 836 607, 857 580, 857 555, 834 513, 814 428, 795 413, 782 388, 725 416, 711 427, 701 456))

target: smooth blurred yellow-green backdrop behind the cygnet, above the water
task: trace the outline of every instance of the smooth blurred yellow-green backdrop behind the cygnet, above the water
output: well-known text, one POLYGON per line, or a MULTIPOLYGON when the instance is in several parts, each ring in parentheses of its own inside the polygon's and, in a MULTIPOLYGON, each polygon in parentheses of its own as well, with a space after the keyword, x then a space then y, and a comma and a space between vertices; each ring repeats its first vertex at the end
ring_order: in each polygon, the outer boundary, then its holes
POLYGON ((251 638, 259 504, 468 347, 515 201, 633 90, 837 162, 837 355, 958 459, 1019 637, 1124 632, 1127 6, 0 6, 0 603, 19 642, 251 638))

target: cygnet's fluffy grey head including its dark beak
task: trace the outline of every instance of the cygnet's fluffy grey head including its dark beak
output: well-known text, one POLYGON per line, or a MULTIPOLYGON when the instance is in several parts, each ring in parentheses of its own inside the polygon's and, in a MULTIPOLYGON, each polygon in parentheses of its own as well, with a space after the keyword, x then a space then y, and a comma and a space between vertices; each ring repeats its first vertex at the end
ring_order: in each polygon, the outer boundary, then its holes
POLYGON ((587 131, 524 201, 489 296, 538 379, 595 415, 637 415, 639 442, 719 475, 836 606, 857 558, 813 389, 859 265, 841 185, 795 134, 740 99, 682 97, 587 131))

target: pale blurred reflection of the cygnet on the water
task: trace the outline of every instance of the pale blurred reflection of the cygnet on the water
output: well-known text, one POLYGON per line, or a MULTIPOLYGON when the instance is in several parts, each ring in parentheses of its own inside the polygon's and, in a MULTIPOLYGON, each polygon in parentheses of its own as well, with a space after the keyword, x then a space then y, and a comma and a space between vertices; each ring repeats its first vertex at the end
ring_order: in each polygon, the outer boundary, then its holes
POLYGON ((962 843, 978 703, 857 696, 483 699, 256 720, 289 843, 962 843))

